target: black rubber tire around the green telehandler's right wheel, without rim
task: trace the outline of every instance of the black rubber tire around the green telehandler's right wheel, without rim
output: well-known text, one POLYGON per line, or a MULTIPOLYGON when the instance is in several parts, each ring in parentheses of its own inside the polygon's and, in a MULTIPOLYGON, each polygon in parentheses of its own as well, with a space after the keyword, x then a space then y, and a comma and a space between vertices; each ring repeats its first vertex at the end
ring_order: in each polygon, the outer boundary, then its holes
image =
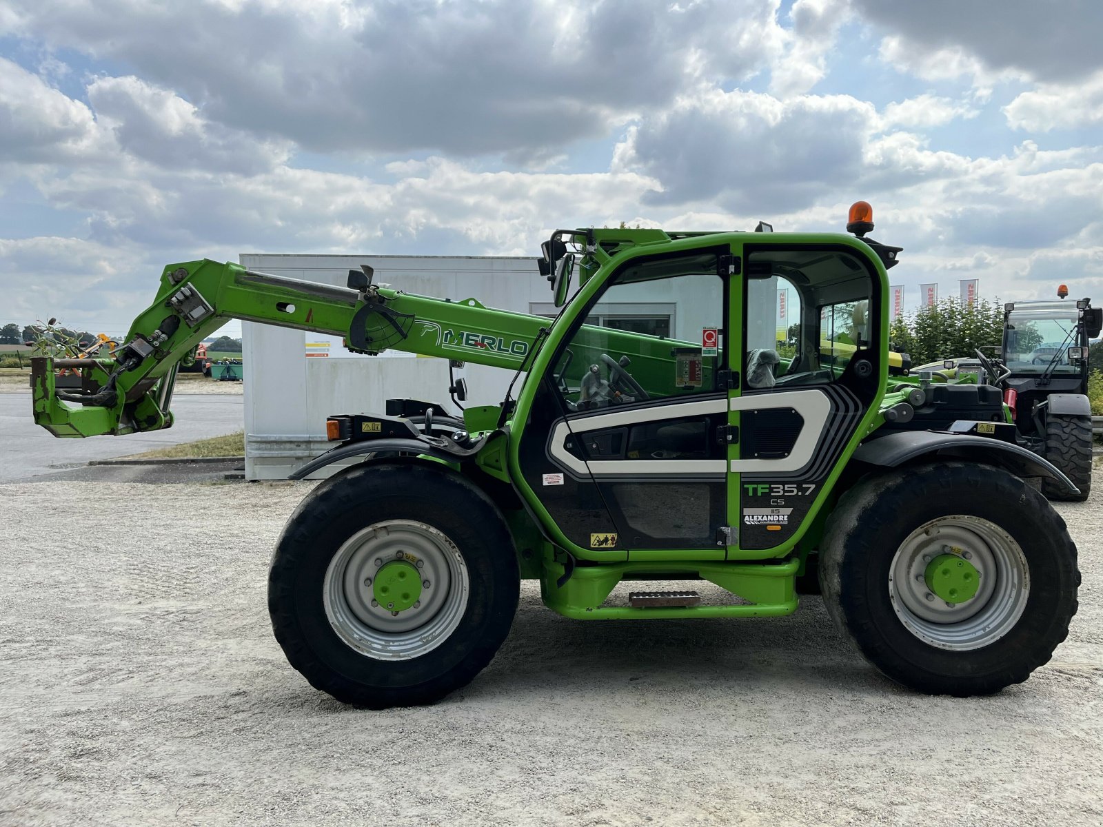
POLYGON ((1064 522, 1040 493, 988 465, 944 462, 866 477, 839 500, 820 556, 824 603, 839 629, 888 677, 931 695, 988 695, 1026 680, 1050 659, 1077 612, 1080 572, 1064 522), (931 520, 957 515, 1006 531, 1029 577, 1026 593, 1005 581, 1022 601, 1021 614, 1007 621, 1014 625, 967 651, 910 631, 890 595, 901 544, 931 520))

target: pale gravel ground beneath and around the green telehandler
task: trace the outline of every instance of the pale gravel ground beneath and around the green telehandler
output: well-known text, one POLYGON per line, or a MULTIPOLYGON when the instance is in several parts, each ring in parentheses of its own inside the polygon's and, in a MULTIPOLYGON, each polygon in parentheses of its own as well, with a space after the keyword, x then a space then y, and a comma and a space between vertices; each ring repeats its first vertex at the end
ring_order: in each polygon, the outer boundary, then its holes
POLYGON ((0 824, 1097 825, 1101 492, 1080 613, 990 698, 791 617, 579 623, 526 583, 467 689, 357 711, 285 662, 268 558, 310 483, 0 486, 0 824), (49 515, 49 517, 46 516, 49 515))

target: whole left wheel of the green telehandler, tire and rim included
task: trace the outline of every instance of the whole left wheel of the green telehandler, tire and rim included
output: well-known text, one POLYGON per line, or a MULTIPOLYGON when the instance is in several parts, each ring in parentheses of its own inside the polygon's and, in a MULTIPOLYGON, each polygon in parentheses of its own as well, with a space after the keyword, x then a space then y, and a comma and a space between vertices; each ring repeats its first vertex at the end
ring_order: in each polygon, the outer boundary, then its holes
POLYGON ((501 514, 467 480, 416 463, 319 485, 272 558, 268 608, 291 665, 338 700, 431 704, 505 640, 520 574, 501 514))

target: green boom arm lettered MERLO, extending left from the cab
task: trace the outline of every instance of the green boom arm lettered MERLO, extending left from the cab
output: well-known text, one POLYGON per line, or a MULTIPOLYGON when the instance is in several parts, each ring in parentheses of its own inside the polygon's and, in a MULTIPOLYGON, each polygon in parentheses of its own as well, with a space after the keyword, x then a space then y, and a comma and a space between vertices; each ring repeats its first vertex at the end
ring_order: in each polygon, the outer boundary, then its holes
POLYGON ((211 260, 170 265, 157 299, 113 358, 32 359, 34 421, 56 437, 169 428, 180 361, 231 319, 344 336, 350 350, 387 348, 517 369, 542 316, 375 287, 352 290, 211 260), (85 393, 60 391, 54 369, 81 368, 85 393))

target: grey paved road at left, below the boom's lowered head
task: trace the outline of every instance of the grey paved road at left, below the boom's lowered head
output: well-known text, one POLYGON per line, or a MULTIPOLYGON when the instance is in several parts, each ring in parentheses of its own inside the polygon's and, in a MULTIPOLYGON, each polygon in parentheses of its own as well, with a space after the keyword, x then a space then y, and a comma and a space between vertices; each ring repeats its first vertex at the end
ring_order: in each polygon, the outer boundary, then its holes
POLYGON ((243 428, 243 397, 196 395, 172 400, 176 423, 151 433, 126 437, 57 439, 31 419, 31 394, 0 395, 0 483, 26 481, 89 460, 151 451, 154 448, 233 433, 243 428))

